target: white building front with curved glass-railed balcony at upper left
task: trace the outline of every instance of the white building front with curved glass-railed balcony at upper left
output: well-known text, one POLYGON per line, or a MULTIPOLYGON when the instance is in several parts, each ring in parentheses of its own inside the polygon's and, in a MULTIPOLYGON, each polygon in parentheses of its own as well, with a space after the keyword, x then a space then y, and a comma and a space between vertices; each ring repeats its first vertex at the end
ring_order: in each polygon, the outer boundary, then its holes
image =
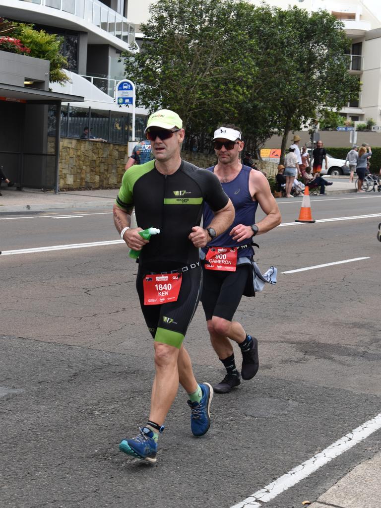
MULTIPOLYGON (((35 23, 36 28, 63 37, 70 73, 89 81, 87 102, 96 101, 98 109, 107 110, 110 97, 100 101, 99 92, 105 92, 105 98, 113 95, 115 81, 125 77, 118 62, 120 52, 135 41, 135 25, 123 15, 123 1, 110 0, 107 4, 111 7, 100 0, 0 0, 0 10, 2 17, 35 23)), ((79 96, 77 88, 71 86, 72 93, 79 96)))

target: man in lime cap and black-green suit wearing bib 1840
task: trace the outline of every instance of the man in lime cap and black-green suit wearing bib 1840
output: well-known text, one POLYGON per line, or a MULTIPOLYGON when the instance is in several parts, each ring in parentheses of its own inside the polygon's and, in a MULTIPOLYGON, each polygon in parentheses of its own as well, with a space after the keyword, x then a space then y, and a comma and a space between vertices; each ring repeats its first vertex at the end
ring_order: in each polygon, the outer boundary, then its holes
POLYGON ((136 288, 154 339, 155 378, 148 420, 136 437, 122 439, 119 450, 155 462, 179 382, 189 396, 192 433, 202 436, 210 426, 213 389, 197 383, 183 340, 200 298, 199 247, 230 226, 234 208, 215 175, 181 159, 184 129, 177 113, 152 113, 145 133, 154 160, 124 173, 114 223, 127 246, 140 251, 136 288), (200 227, 204 203, 213 210, 205 229, 200 227), (130 227, 134 206, 138 228, 130 227), (150 227, 160 233, 145 240, 139 232, 150 227))

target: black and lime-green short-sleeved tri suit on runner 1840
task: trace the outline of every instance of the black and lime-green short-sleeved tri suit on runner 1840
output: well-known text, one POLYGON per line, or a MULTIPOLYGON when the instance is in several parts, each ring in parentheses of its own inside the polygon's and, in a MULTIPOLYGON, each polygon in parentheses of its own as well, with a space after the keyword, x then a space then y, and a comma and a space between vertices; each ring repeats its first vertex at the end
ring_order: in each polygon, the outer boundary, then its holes
POLYGON ((171 175, 158 172, 154 161, 124 173, 116 205, 128 212, 135 207, 140 228, 160 229, 142 248, 136 280, 144 319, 157 342, 181 347, 202 289, 199 249, 188 236, 194 226, 200 226, 204 202, 218 211, 228 200, 213 173, 186 161, 171 175), (144 305, 145 275, 170 271, 182 273, 177 301, 144 305))

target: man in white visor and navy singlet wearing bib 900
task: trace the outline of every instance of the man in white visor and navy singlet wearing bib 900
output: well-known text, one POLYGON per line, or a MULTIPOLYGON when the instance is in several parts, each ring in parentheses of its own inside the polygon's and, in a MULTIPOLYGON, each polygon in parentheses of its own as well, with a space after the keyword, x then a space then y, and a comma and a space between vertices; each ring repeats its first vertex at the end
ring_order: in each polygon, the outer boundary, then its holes
MULTIPOLYGON (((281 219, 267 178, 240 162, 244 147, 240 129, 229 124, 221 126, 214 132, 213 146, 218 162, 208 170, 217 176, 232 200, 235 218, 224 233, 213 232, 202 248, 204 282, 201 302, 211 344, 226 369, 224 379, 213 389, 216 393, 229 393, 241 384, 241 376, 251 379, 259 368, 257 339, 247 334, 238 321, 233 321, 242 295, 246 295, 247 284, 253 277, 252 240, 257 234, 275 228, 281 219), (258 204, 265 217, 256 223, 258 204), (232 343, 238 344, 242 354, 241 374, 235 365, 232 343)), ((206 203, 204 222, 209 224, 212 216, 206 203)), ((276 278, 272 280, 275 281, 276 278)))

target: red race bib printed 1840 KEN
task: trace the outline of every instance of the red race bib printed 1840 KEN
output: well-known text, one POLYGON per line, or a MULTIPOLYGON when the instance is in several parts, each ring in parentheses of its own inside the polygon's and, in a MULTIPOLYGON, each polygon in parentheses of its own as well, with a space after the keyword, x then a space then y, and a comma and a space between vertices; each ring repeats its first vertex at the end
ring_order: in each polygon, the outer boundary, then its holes
POLYGON ((144 305, 176 302, 181 280, 181 273, 146 275, 143 279, 144 305))

